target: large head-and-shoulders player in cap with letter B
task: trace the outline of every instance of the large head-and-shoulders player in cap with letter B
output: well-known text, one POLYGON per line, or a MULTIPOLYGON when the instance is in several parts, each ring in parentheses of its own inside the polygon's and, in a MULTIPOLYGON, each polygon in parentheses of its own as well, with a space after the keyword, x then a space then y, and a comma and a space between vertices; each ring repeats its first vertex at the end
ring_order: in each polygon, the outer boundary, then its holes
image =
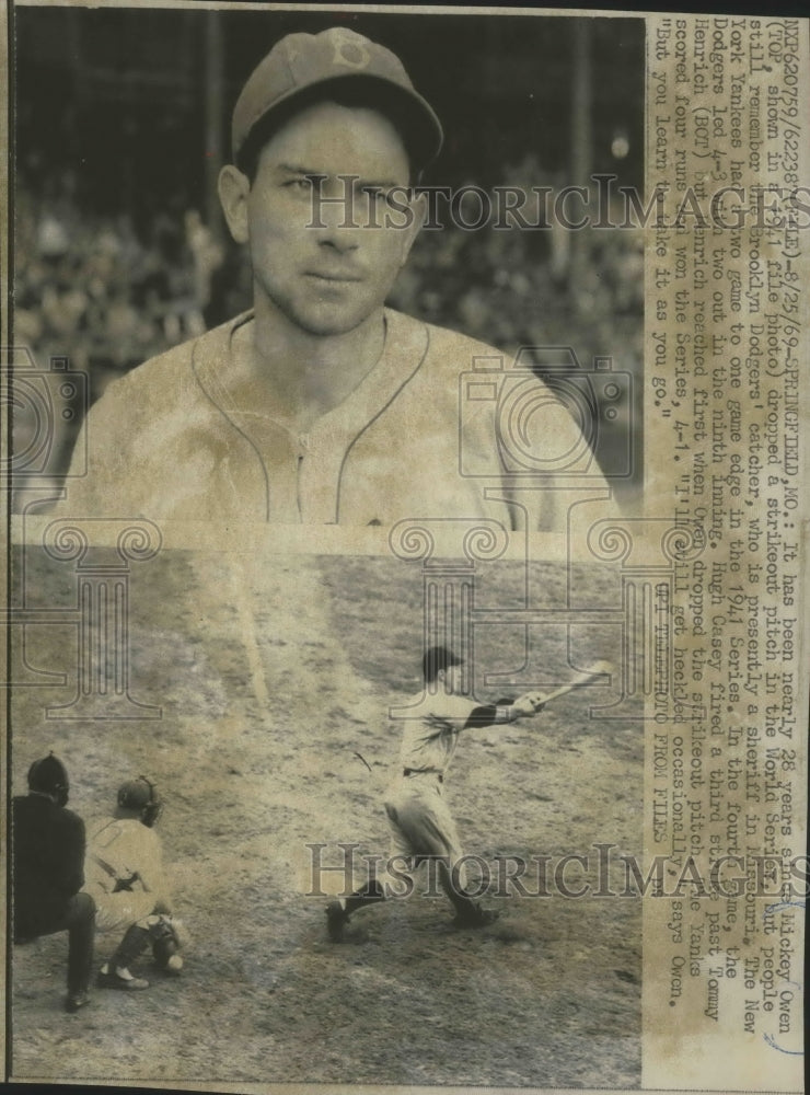
POLYGON ((443 140, 389 48, 337 26, 277 42, 239 95, 219 175, 253 307, 106 390, 60 516, 489 517, 559 531, 570 479, 555 466, 581 473, 579 500, 610 514, 580 425, 543 381, 530 373, 521 391, 521 405, 539 408, 528 436, 525 416, 505 426, 491 399, 462 407, 462 376, 482 362, 508 368, 505 356, 386 306, 426 217, 420 174, 443 140), (526 466, 546 460, 542 489, 516 489, 512 435, 530 450, 526 466))

